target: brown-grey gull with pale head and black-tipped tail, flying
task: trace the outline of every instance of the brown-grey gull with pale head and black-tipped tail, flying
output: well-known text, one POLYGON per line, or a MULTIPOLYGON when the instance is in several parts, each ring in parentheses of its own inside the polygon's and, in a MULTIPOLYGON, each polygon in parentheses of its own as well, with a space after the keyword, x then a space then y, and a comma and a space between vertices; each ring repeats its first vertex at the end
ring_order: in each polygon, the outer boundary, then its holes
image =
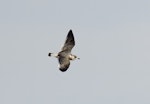
POLYGON ((49 57, 54 56, 58 59, 60 71, 65 72, 70 66, 70 61, 80 59, 76 55, 73 55, 71 53, 71 50, 74 46, 75 46, 75 38, 72 30, 70 29, 66 37, 65 43, 61 48, 61 51, 58 53, 48 53, 49 57))

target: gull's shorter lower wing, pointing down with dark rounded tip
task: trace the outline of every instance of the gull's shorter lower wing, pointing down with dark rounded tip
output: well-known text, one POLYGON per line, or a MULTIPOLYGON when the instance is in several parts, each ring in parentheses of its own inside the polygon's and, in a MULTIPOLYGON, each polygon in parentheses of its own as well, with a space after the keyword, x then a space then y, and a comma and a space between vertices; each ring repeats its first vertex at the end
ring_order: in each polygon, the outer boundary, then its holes
POLYGON ((60 64, 59 69, 62 72, 65 72, 70 66, 69 58, 68 57, 64 57, 64 56, 59 56, 58 61, 59 61, 59 64, 60 64))

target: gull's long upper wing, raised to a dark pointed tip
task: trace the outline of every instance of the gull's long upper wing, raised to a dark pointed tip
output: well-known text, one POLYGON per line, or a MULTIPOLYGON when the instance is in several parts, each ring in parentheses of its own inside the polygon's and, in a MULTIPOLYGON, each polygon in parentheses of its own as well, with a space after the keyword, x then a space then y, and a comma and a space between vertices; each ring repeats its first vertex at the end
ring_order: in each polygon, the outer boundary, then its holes
POLYGON ((68 32, 68 35, 66 37, 66 41, 65 41, 64 46, 62 47, 61 51, 69 51, 69 52, 71 52, 71 50, 74 47, 74 45, 75 45, 74 36, 73 36, 72 30, 70 30, 68 32))

